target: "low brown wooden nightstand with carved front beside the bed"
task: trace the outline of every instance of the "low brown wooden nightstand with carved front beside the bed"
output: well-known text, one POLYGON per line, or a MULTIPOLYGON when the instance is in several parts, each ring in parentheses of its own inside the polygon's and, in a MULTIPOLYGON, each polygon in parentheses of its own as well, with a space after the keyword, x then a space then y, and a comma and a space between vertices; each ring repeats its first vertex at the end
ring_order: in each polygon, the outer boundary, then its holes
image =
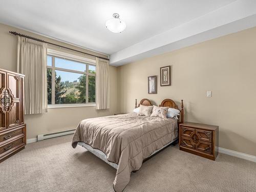
POLYGON ((219 153, 219 126, 184 122, 179 128, 180 150, 216 159, 219 153))

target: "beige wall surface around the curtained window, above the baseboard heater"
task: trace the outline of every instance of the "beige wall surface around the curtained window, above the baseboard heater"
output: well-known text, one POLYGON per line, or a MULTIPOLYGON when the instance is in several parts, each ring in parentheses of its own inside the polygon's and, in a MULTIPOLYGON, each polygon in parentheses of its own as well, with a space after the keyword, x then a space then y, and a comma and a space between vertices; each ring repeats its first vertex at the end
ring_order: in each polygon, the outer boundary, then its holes
MULTIPOLYGON (((0 68, 16 72, 17 70, 17 37, 11 35, 9 31, 16 31, 19 33, 31 35, 56 43, 58 45, 67 46, 87 53, 93 53, 82 48, 74 47, 53 39, 49 39, 40 35, 29 33, 24 30, 16 29, 7 25, 0 24, 0 68)), ((50 47, 58 49, 56 47, 50 47)), ((61 51, 69 52, 65 49, 61 51)), ((75 52, 73 54, 80 55, 75 52)), ((99 56, 104 56, 98 54, 99 56)), ((27 123, 27 138, 35 138, 38 134, 50 133, 55 131, 74 129, 79 121, 86 118, 112 115, 117 111, 117 68, 110 67, 110 109, 96 110, 94 106, 80 107, 80 108, 62 108, 49 109, 48 113, 39 115, 25 115, 25 122, 27 123)))

